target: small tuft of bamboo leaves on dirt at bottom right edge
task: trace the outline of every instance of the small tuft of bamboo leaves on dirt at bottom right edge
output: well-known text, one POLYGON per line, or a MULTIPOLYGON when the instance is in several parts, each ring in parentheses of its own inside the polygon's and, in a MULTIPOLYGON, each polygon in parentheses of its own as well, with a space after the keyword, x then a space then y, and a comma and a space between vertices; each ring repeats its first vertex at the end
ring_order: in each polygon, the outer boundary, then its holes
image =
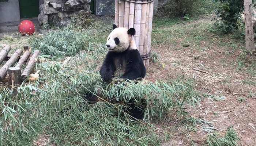
POLYGON ((237 146, 236 140, 240 140, 236 132, 231 129, 233 126, 227 128, 225 135, 210 134, 206 140, 205 146, 237 146))

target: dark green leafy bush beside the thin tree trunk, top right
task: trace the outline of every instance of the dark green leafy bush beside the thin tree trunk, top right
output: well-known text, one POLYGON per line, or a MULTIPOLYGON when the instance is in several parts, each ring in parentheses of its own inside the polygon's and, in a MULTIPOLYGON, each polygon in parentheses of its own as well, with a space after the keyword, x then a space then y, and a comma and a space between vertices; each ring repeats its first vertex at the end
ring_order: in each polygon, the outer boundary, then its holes
POLYGON ((214 0, 219 3, 215 11, 217 19, 215 25, 222 32, 231 32, 242 26, 241 12, 244 10, 243 0, 214 0))

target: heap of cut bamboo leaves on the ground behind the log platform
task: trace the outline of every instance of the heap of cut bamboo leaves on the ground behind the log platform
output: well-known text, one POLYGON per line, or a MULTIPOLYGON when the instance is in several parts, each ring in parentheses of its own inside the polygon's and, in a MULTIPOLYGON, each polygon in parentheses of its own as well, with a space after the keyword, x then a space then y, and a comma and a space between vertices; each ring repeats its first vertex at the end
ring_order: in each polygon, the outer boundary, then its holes
POLYGON ((92 42, 101 42, 104 34, 99 35, 83 29, 74 29, 70 25, 64 28, 56 28, 47 35, 31 36, 29 43, 31 49, 39 49, 40 54, 63 57, 75 55, 79 50, 90 50, 92 42))

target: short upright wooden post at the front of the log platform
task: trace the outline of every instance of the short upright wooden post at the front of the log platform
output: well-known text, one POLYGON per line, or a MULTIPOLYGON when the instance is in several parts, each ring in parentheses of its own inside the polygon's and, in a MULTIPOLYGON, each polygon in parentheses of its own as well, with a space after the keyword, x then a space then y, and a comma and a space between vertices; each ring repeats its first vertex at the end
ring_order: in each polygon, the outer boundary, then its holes
POLYGON ((15 87, 20 85, 22 81, 20 80, 21 68, 8 68, 8 85, 11 86, 12 89, 12 97, 18 94, 18 91, 15 87))

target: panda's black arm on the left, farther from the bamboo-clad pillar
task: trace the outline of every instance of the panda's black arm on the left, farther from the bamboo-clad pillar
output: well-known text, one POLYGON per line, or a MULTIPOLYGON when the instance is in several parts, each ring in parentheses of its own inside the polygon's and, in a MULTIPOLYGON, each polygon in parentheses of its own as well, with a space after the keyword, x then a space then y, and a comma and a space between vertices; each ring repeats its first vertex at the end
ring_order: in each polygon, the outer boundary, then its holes
POLYGON ((113 78, 114 72, 116 71, 116 67, 114 65, 114 60, 113 60, 113 53, 108 52, 106 55, 105 60, 103 61, 103 64, 101 66, 100 74, 101 77, 105 81, 110 81, 113 78))

